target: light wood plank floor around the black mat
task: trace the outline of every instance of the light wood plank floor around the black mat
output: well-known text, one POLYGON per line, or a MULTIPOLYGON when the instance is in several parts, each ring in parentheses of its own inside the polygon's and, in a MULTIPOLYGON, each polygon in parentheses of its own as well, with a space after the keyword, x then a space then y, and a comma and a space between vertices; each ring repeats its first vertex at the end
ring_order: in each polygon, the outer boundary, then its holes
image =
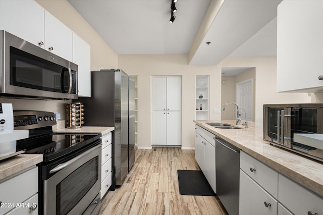
POLYGON ((100 214, 227 214, 218 197, 181 195, 177 170, 200 170, 194 150, 136 149, 132 170, 103 197, 100 214))

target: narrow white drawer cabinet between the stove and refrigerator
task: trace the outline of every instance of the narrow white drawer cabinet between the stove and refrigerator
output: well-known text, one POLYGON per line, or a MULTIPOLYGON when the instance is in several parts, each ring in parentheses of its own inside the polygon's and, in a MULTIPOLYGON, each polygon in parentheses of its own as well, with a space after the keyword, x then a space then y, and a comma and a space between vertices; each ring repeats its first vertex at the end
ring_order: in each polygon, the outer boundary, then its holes
POLYGON ((112 184, 112 133, 101 137, 101 199, 112 184))

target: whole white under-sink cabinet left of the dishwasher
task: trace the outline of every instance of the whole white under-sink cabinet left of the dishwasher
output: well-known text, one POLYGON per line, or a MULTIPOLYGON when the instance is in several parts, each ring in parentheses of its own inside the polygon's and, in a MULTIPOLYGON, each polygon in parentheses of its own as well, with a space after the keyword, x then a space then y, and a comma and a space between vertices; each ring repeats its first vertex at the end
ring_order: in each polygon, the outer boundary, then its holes
POLYGON ((216 136, 195 125, 195 159, 216 193, 216 136))

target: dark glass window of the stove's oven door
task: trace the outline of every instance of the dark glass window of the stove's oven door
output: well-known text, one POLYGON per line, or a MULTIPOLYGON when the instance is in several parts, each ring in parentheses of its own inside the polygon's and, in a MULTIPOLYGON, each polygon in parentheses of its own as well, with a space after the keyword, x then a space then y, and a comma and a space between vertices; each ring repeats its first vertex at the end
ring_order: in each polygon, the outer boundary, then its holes
POLYGON ((76 169, 56 186, 56 214, 67 214, 98 180, 98 156, 76 169))

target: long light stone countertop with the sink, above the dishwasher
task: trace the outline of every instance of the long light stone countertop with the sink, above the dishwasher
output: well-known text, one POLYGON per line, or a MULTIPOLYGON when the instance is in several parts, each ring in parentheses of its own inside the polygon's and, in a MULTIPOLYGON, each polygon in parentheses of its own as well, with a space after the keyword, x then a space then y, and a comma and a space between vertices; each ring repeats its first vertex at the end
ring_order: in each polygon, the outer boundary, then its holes
MULTIPOLYGON (((263 141, 261 123, 248 122, 248 128, 242 129, 219 129, 207 125, 206 122, 211 121, 194 120, 200 127, 323 196, 323 163, 263 141)), ((221 122, 235 125, 233 120, 221 122)))

